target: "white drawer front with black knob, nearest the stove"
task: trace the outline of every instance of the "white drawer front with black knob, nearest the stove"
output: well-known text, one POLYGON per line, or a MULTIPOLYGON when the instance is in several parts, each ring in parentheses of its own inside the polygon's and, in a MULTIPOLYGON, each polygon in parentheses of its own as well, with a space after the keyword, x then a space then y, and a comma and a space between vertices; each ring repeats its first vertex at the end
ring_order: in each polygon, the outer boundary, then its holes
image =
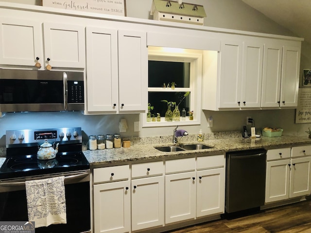
POLYGON ((94 183, 124 181, 130 178, 130 166, 123 165, 95 168, 93 173, 94 183))

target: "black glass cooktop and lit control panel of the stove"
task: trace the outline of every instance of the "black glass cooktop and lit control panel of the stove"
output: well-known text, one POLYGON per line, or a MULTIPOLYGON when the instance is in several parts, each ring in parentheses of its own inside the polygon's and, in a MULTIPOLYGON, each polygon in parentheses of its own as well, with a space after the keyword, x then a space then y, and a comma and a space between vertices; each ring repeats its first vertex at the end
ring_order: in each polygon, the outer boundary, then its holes
POLYGON ((89 169, 82 152, 81 128, 7 131, 6 153, 0 180, 89 169), (39 134, 44 136, 38 137, 39 134), (59 143, 54 159, 37 159, 43 139, 51 144, 59 143))

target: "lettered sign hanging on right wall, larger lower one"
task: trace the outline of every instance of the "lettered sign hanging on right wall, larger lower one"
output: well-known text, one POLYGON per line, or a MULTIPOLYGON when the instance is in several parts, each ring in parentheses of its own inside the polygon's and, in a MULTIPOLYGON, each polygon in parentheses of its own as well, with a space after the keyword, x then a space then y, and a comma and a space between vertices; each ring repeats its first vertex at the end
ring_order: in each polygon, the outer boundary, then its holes
POLYGON ((295 123, 311 122, 311 88, 299 88, 295 123))

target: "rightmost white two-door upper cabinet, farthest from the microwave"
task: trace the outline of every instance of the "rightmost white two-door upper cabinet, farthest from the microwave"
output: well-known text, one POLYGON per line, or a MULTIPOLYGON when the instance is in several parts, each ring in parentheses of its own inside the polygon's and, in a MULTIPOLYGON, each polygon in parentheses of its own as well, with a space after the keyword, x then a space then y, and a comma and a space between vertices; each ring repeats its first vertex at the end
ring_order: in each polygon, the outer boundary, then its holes
POLYGON ((281 42, 265 44, 261 107, 297 106, 300 50, 281 42))

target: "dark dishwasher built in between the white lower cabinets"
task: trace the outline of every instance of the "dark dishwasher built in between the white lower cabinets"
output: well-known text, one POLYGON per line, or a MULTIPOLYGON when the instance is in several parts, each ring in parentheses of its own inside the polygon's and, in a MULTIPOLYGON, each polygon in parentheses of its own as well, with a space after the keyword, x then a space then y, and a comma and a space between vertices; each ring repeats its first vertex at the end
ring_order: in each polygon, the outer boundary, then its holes
POLYGON ((266 150, 226 153, 225 213, 258 208, 264 204, 266 150))

